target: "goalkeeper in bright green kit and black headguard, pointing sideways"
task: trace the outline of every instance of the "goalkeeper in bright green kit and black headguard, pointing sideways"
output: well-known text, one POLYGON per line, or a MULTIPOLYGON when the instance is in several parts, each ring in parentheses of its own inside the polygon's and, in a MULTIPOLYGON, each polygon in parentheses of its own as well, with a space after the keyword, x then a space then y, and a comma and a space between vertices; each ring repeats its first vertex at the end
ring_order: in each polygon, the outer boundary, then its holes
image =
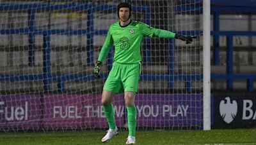
POLYGON ((102 138, 102 142, 109 141, 111 137, 118 134, 112 101, 115 93, 124 93, 129 129, 126 144, 134 144, 137 114, 134 100, 138 92, 138 82, 140 79, 141 41, 143 37, 175 38, 186 41, 186 44, 191 43, 195 37, 182 36, 131 20, 132 10, 129 3, 118 4, 117 10, 119 21, 109 27, 106 40, 100 50, 94 69, 95 78, 99 78, 100 66, 103 60, 106 59, 109 49, 114 45, 113 67, 104 84, 101 99, 104 115, 109 125, 108 133, 102 138))

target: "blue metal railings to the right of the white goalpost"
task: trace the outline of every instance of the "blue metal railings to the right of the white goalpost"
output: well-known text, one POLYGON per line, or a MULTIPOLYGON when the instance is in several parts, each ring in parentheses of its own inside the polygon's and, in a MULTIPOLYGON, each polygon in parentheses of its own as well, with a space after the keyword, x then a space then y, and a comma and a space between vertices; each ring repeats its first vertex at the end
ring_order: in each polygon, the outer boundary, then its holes
MULTIPOLYGON (((237 1, 237 0, 236 0, 237 1)), ((224 1, 225 2, 225 1, 224 1)), ((241 2, 241 1, 240 1, 241 2)), ((243 1, 242 1, 243 3, 243 1)), ((256 3, 255 3, 256 4, 256 3)), ((251 5, 252 6, 252 5, 251 5)), ((237 7, 232 6, 211 6, 211 11, 213 17, 213 31, 211 35, 213 36, 213 65, 220 64, 220 36, 227 36, 227 74, 211 74, 211 79, 225 79, 227 80, 227 89, 234 90, 234 79, 246 79, 248 92, 254 91, 253 81, 256 80, 256 74, 234 74, 234 46, 233 46, 233 36, 256 36, 256 31, 220 31, 220 15, 221 13, 256 13, 256 7, 246 6, 246 8, 241 5, 237 7)))

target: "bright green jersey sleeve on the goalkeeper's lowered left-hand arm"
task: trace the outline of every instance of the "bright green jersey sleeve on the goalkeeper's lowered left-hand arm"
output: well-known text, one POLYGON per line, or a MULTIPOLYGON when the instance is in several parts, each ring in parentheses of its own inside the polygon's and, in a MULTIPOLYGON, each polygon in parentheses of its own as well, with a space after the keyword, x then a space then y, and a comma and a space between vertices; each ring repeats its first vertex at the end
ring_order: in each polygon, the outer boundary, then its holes
POLYGON ((113 45, 113 38, 112 38, 112 34, 111 34, 111 27, 109 28, 108 30, 108 34, 107 34, 107 37, 104 41, 104 44, 100 50, 100 54, 99 54, 99 58, 98 58, 98 61, 100 62, 103 62, 104 59, 106 59, 107 55, 108 55, 108 52, 111 48, 111 46, 113 45))

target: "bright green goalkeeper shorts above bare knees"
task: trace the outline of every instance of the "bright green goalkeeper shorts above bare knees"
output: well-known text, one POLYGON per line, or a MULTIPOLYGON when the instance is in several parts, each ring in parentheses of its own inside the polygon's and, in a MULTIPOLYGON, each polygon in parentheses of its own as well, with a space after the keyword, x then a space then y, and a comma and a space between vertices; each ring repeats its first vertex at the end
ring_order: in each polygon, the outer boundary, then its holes
POLYGON ((141 64, 113 63, 103 90, 114 93, 138 92, 141 64))

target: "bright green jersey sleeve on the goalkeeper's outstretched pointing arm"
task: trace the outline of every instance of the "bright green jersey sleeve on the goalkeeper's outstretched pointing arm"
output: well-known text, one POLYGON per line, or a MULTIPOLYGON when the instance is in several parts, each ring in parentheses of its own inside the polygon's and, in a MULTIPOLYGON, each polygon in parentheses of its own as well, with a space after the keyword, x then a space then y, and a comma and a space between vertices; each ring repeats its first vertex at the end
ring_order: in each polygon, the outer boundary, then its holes
POLYGON ((166 31, 163 29, 156 29, 154 27, 150 27, 147 24, 140 24, 140 29, 143 35, 148 36, 150 38, 156 36, 159 38, 175 38, 175 33, 166 31))

